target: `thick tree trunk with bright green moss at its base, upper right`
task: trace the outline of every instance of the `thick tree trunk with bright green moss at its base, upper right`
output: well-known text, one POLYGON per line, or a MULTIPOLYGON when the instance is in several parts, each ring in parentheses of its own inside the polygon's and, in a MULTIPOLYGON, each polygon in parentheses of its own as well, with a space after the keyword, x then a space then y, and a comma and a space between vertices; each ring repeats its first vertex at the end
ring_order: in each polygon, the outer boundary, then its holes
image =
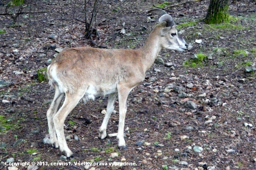
POLYGON ((229 22, 229 0, 210 0, 204 22, 206 24, 229 22))

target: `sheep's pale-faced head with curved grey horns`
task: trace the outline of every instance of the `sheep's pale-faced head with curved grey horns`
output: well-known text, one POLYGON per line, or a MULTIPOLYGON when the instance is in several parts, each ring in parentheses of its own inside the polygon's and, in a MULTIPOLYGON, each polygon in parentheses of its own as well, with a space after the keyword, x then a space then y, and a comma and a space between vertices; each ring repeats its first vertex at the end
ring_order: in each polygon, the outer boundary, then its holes
POLYGON ((151 9, 148 13, 155 13, 160 16, 159 22, 166 22, 166 27, 161 30, 162 47, 169 50, 183 51, 187 49, 187 43, 178 33, 173 18, 162 9, 151 9))

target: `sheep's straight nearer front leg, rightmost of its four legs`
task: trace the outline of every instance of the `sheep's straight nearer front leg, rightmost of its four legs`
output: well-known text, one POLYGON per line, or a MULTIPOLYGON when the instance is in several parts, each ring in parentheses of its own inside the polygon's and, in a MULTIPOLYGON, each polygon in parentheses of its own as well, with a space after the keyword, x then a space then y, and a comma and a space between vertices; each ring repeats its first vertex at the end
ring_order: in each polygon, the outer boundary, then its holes
POLYGON ((121 149, 126 149, 126 144, 124 140, 124 121, 127 111, 127 97, 132 88, 122 87, 118 89, 118 101, 119 101, 119 125, 116 138, 118 139, 118 146, 121 149))

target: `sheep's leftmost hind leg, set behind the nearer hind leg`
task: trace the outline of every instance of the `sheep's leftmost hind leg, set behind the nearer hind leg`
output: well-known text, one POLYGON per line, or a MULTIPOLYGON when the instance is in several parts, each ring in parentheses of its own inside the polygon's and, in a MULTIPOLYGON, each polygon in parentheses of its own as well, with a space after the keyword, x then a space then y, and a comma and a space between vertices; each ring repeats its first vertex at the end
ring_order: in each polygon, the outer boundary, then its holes
POLYGON ((48 121, 48 128, 49 128, 49 135, 51 139, 51 144, 53 147, 58 148, 59 142, 56 137, 55 127, 54 127, 54 115, 57 113, 58 108, 61 105, 61 101, 63 99, 64 93, 60 92, 60 89, 57 87, 55 88, 54 100, 47 111, 47 121, 48 121))

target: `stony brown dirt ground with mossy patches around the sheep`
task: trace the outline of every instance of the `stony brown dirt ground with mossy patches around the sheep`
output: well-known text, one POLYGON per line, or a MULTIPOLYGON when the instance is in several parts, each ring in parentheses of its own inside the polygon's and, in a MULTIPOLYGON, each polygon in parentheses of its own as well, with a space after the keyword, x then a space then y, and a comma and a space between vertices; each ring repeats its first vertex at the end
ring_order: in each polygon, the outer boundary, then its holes
MULTIPOLYGON (((101 39, 93 36, 94 43, 108 48, 140 48, 158 20, 146 11, 163 2, 103 0, 96 21, 101 39), (148 17, 155 21, 147 22, 148 17), (123 27, 126 33, 120 34, 123 27)), ((169 8, 167 12, 193 48, 162 50, 159 58, 163 62, 155 62, 145 81, 128 96, 128 148, 119 150, 115 137, 97 138, 104 117, 101 112, 108 102, 107 96, 100 97, 79 103, 67 116, 65 135, 74 152, 71 158, 43 143, 54 89, 47 82, 38 82, 37 70, 47 67, 57 53, 55 49, 69 47, 70 41, 72 47, 96 45, 84 36, 83 0, 31 3, 31 9, 30 5, 23 8, 25 13, 17 18, 16 26, 10 26, 10 16, 0 15, 0 31, 6 31, 0 34, 1 170, 11 169, 6 165, 9 158, 15 163, 35 162, 39 170, 256 169, 256 76, 255 70, 248 71, 256 64, 255 0, 229 1, 230 23, 219 25, 203 22, 209 0, 169 8), (200 39, 202 43, 195 43, 200 39), (191 59, 194 56, 203 56, 203 60, 191 59), (188 101, 197 106, 189 107, 188 101), (114 162, 132 165, 109 164, 114 162)), ((88 15, 92 6, 93 0, 88 0, 88 15)), ((5 13, 4 6, 0 6, 0 13, 5 13)), ((117 101, 108 134, 118 129, 117 101)))

